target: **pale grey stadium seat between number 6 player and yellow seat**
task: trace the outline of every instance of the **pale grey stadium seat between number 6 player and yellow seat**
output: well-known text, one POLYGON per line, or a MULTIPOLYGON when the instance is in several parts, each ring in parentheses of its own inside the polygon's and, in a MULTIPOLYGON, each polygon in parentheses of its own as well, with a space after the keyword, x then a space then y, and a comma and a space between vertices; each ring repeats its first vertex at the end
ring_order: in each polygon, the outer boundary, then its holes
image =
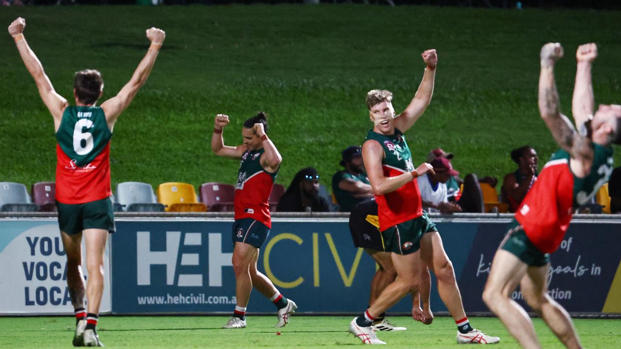
POLYGON ((164 212, 165 207, 157 202, 151 184, 123 182, 117 184, 116 197, 126 212, 164 212))

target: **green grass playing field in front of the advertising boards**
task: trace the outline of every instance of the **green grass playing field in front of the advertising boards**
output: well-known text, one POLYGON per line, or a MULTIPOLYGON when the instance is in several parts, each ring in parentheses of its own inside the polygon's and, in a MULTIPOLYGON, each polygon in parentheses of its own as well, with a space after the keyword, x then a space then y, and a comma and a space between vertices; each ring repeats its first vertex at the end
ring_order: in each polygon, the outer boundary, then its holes
MULTIPOLYGON (((342 348, 360 345, 347 333, 351 317, 301 316, 278 330, 276 317, 248 317, 248 328, 224 330, 227 317, 102 317, 97 326, 99 338, 107 348, 342 348)), ((378 337, 391 348, 455 348, 455 322, 450 317, 437 317, 425 326, 408 317, 392 317, 407 332, 381 332, 378 337)), ((492 335, 501 337, 494 348, 519 348, 501 322, 495 318, 471 318, 471 323, 492 335)), ((621 320, 574 319, 586 348, 616 349, 621 347, 621 320)), ((544 348, 563 348, 540 319, 534 319, 535 330, 544 348)), ((73 338, 70 317, 0 318, 2 348, 66 348, 73 338)))

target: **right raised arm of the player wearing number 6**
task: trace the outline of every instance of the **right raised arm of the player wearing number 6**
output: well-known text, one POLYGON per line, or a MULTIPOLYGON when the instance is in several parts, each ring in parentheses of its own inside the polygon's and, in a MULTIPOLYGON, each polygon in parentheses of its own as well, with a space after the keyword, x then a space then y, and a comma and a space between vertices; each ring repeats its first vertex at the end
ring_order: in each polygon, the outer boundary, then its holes
POLYGON ((147 39, 151 41, 147 54, 138 64, 138 68, 134 71, 134 75, 132 75, 129 83, 125 84, 116 96, 101 104, 101 108, 104 109, 104 114, 106 114, 106 122, 111 130, 120 113, 129 106, 138 89, 147 81, 165 38, 166 33, 163 30, 156 28, 147 29, 147 39))

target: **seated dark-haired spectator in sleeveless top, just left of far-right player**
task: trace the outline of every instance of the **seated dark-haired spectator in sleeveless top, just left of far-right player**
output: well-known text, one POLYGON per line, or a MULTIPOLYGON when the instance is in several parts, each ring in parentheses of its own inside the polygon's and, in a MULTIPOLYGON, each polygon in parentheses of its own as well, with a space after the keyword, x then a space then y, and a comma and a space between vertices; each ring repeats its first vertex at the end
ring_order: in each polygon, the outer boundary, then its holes
POLYGON ((502 201, 509 205, 509 212, 515 212, 537 180, 537 152, 525 145, 511 151, 511 160, 518 167, 515 172, 505 175, 501 194, 502 201))

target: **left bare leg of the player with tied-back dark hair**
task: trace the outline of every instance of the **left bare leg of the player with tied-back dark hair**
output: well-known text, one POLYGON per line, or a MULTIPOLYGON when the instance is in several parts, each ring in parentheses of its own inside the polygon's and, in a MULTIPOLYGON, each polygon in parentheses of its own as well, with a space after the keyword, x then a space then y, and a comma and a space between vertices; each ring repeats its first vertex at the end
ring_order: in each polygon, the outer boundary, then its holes
POLYGON ((247 307, 252 291, 250 265, 255 261, 258 248, 248 243, 236 242, 233 249, 233 271, 235 271, 235 297, 238 307, 247 307))

